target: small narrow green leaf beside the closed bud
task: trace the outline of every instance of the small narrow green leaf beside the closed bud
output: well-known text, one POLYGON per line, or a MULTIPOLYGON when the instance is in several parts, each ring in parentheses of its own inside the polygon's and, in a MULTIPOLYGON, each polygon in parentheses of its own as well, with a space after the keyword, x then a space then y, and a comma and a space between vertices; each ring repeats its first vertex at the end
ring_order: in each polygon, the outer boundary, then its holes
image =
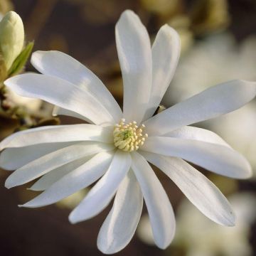
POLYGON ((16 75, 21 72, 24 65, 26 64, 29 55, 31 54, 31 51, 33 49, 33 42, 30 42, 27 44, 27 46, 21 51, 20 55, 14 60, 14 63, 11 65, 11 68, 9 69, 8 76, 16 75))

